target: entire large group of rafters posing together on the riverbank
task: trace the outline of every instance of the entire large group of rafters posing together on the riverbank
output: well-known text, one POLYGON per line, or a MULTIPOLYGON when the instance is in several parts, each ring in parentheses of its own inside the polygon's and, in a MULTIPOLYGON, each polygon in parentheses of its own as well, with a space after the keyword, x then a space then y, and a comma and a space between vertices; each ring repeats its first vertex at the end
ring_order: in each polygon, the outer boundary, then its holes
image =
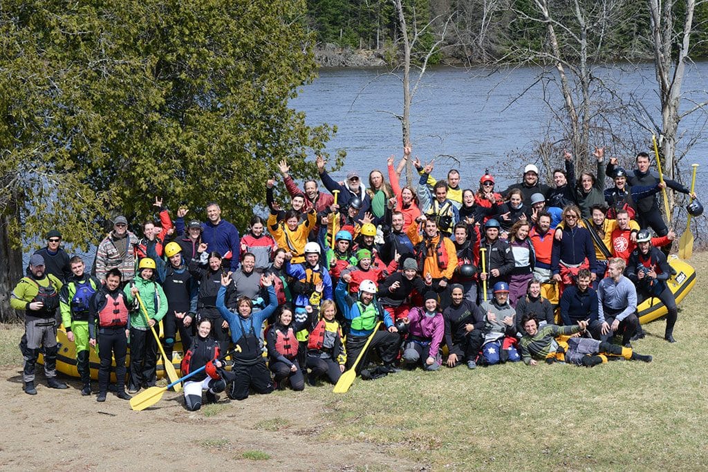
POLYGON ((667 284, 675 234, 656 194, 690 191, 660 182, 645 153, 633 171, 616 159, 605 166, 604 154, 596 148, 596 173, 576 179, 566 153, 552 185, 529 164, 501 191, 489 171, 478 188, 455 169, 437 180, 434 163, 411 159, 409 148, 398 166, 388 159, 386 174, 371 171, 368 185, 358 171, 337 182, 318 158, 326 191, 316 180, 299 188, 281 161, 290 202, 279 205, 278 182, 268 180, 269 214, 253 215, 245 234, 217 202, 199 221, 156 198, 159 217, 144 221, 141 235, 125 217, 113 219, 93 275, 52 230, 11 296, 25 312, 23 390, 37 393, 40 350, 48 385, 67 388, 56 374, 60 324, 76 345, 81 395, 93 393, 89 352, 98 350, 98 401, 112 370, 118 398, 155 385, 150 330, 161 326, 163 362, 179 340, 182 373, 205 367, 185 382, 189 410, 202 393, 207 403, 222 391, 243 400, 336 384, 346 369, 374 378, 501 362, 649 362, 632 350, 643 337, 637 305, 661 299, 669 343, 677 320, 667 284), (415 188, 401 187, 407 161, 420 177, 415 188))

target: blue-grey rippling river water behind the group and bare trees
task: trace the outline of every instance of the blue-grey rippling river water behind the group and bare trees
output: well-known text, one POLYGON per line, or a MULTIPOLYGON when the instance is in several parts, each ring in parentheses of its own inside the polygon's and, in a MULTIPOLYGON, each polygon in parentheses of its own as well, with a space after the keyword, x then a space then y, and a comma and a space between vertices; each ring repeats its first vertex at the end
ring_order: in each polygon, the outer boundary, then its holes
MULTIPOLYGON (((451 167, 459 168, 463 188, 476 188, 486 167, 497 171, 518 169, 520 175, 523 163, 510 156, 530 153, 533 143, 546 136, 552 118, 544 103, 544 88, 535 84, 540 73, 541 69, 536 68, 428 69, 411 108, 413 154, 422 161, 438 156, 438 166, 433 171, 437 177, 444 177, 451 167), (526 93, 519 97, 524 90, 526 93)), ((639 100, 653 120, 661 122, 651 64, 600 67, 595 74, 613 84, 623 98, 639 100)), ((689 100, 708 100, 707 79, 708 62, 688 69, 683 86, 684 108, 692 106, 689 100)), ((554 85, 547 88, 545 96, 556 110, 561 109, 561 96, 554 85)), ((331 154, 340 149, 347 152, 345 166, 333 174, 340 180, 351 169, 360 171, 366 180, 373 168, 385 170, 386 158, 391 154, 396 155, 396 162, 400 159, 401 125, 392 113, 402 113, 402 103, 401 81, 379 69, 323 69, 291 101, 291 105, 307 113, 308 124, 337 125, 338 132, 326 150, 331 154)), ((681 122, 681 129, 700 129, 707 115, 689 115, 681 122)), ((632 132, 637 139, 651 142, 651 132, 639 125, 632 132)), ((612 156, 611 150, 607 155, 612 156)), ((690 163, 700 163, 697 187, 706 188, 707 156, 708 142, 699 139, 684 161, 685 182, 690 183, 690 163)), ((513 177, 498 175, 497 188, 506 188, 512 180, 513 177)))

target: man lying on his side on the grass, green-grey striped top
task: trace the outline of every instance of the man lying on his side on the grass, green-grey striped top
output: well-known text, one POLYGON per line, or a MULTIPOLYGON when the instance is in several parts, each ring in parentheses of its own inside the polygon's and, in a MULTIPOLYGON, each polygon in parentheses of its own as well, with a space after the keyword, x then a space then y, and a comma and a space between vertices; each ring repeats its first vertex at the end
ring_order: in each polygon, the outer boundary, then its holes
POLYGON ((537 365, 539 360, 552 364, 556 360, 593 367, 607 362, 608 357, 624 357, 629 360, 651 362, 652 357, 637 354, 631 347, 622 347, 590 338, 556 340, 556 336, 571 336, 588 328, 588 321, 578 321, 577 326, 547 325, 538 328, 538 320, 532 313, 522 319, 524 335, 521 338, 521 357, 527 365, 537 365))

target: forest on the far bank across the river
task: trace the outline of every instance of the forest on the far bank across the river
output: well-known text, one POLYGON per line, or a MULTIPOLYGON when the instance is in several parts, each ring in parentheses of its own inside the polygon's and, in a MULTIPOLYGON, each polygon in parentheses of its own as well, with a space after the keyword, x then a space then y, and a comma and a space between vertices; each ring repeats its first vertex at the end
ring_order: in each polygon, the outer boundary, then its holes
MULTIPOLYGON (((567 25, 568 35, 578 29, 578 22, 590 22, 586 40, 596 46, 593 60, 652 59, 651 21, 646 2, 550 0, 544 3, 556 21, 567 25)), ((679 30, 684 6, 679 1, 674 7, 679 30)), ((382 50, 389 64, 397 62, 396 44, 401 34, 392 0, 307 0, 307 8, 308 26, 319 45, 382 50)), ((416 43, 418 52, 430 50, 444 33, 442 45, 430 57, 429 64, 547 59, 537 53, 547 44, 547 30, 535 0, 413 0, 406 2, 404 9, 409 28, 420 34, 416 43)), ((692 59, 708 57, 707 25, 708 3, 697 2, 692 59)), ((560 34, 564 32, 561 30, 560 34)), ((573 51, 566 54, 573 56, 573 51)))

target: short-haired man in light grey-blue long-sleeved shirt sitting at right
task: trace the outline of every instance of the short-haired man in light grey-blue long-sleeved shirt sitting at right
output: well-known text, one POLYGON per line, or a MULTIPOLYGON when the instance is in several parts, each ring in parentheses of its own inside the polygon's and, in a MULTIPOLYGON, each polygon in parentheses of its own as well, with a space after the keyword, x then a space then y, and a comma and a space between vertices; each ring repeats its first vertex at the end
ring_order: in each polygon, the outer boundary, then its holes
POLYGON ((602 323, 601 340, 622 334, 622 345, 631 347, 629 340, 639 329, 636 317, 636 287, 622 275, 624 260, 612 258, 607 262, 607 274, 598 285, 598 320, 602 323))

